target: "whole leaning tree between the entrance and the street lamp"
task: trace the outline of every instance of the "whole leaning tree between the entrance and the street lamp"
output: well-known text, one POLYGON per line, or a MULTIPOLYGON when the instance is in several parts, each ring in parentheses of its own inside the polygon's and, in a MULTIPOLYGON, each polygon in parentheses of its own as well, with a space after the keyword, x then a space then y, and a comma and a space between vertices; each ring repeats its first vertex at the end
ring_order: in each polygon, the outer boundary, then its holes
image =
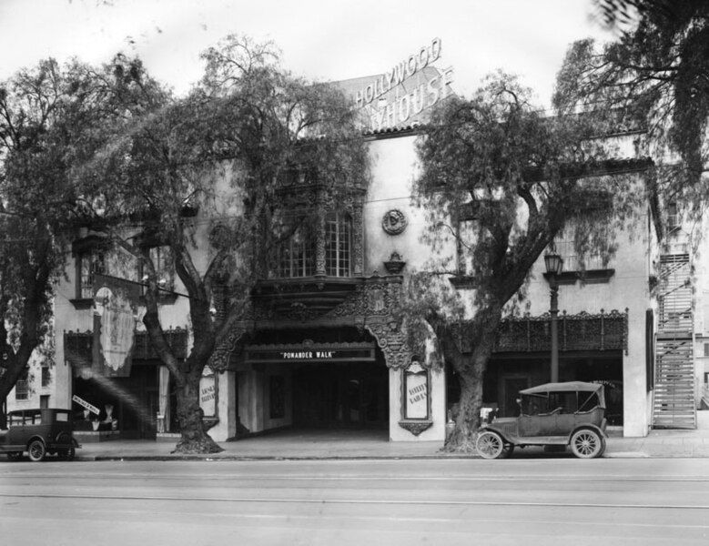
POLYGON ((522 297, 534 262, 564 228, 581 251, 613 245, 599 229, 629 207, 614 198, 629 195, 622 191, 629 180, 603 176, 613 161, 593 137, 606 122, 544 116, 528 89, 497 75, 470 100, 448 100, 425 127, 417 189, 429 211, 426 238, 442 258, 412 278, 410 323, 425 319, 412 330, 435 332, 461 383, 449 450, 471 449, 496 330, 522 297), (457 258, 446 258, 451 244, 457 258), (452 288, 451 276, 465 288, 452 288))

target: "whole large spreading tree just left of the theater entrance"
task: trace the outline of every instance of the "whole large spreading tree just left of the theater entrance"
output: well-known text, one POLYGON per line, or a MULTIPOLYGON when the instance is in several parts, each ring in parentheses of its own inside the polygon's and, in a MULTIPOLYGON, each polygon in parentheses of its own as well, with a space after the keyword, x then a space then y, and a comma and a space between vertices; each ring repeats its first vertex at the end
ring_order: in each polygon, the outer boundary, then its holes
POLYGON ((368 172, 349 102, 289 74, 272 45, 231 35, 203 58, 205 75, 188 96, 163 98, 154 88, 157 107, 114 116, 74 171, 101 204, 97 217, 116 245, 144 266, 143 322, 175 380, 183 452, 220 450, 201 419, 200 379, 218 342, 244 318, 269 250, 292 233, 283 217, 309 221, 311 211, 279 187, 294 173, 307 175, 337 199, 368 172), (186 359, 166 341, 156 245, 169 249, 167 265, 187 292, 186 359))

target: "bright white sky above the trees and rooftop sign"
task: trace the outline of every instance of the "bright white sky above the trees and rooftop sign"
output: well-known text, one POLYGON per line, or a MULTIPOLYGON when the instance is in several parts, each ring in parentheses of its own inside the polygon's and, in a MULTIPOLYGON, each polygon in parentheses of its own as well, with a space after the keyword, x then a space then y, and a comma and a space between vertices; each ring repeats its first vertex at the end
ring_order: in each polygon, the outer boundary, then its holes
POLYGON ((437 66, 453 67, 457 93, 502 69, 546 107, 567 47, 613 39, 592 15, 591 0, 0 0, 0 80, 47 56, 122 51, 182 95, 200 52, 237 33, 274 41, 299 76, 335 81, 382 74, 440 38, 437 66))

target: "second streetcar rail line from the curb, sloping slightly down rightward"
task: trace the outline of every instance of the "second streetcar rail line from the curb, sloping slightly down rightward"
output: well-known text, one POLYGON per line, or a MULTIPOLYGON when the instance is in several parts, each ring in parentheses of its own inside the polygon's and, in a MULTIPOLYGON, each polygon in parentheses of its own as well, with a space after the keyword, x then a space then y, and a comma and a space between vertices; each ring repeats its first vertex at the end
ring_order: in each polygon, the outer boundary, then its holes
POLYGON ((57 493, 0 493, 0 497, 9 499, 74 499, 86 501, 177 501, 177 502, 250 502, 272 504, 361 504, 361 505, 396 505, 396 506, 509 506, 518 508, 613 508, 640 510, 706 510, 704 504, 621 504, 612 502, 522 502, 522 501, 397 501, 372 499, 293 499, 258 497, 172 497, 164 495, 80 495, 57 493))

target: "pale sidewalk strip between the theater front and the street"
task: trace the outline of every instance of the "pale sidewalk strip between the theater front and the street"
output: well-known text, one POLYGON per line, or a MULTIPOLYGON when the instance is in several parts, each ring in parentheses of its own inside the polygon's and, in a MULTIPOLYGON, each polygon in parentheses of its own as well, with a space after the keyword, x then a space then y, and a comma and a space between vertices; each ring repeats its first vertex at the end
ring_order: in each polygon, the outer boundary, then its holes
MULTIPOLYGON (((707 412, 709 417, 709 412, 707 412)), ((441 452, 439 441, 392 442, 386 432, 293 431, 220 442, 224 449, 209 455, 172 454, 173 442, 109 440, 85 443, 77 460, 329 460, 329 459, 461 459, 441 452)), ((541 448, 516 451, 513 457, 559 457, 541 448)), ((568 455, 571 456, 571 455, 568 455)), ((709 429, 651 430, 645 438, 607 440, 606 458, 709 458, 709 429)))

